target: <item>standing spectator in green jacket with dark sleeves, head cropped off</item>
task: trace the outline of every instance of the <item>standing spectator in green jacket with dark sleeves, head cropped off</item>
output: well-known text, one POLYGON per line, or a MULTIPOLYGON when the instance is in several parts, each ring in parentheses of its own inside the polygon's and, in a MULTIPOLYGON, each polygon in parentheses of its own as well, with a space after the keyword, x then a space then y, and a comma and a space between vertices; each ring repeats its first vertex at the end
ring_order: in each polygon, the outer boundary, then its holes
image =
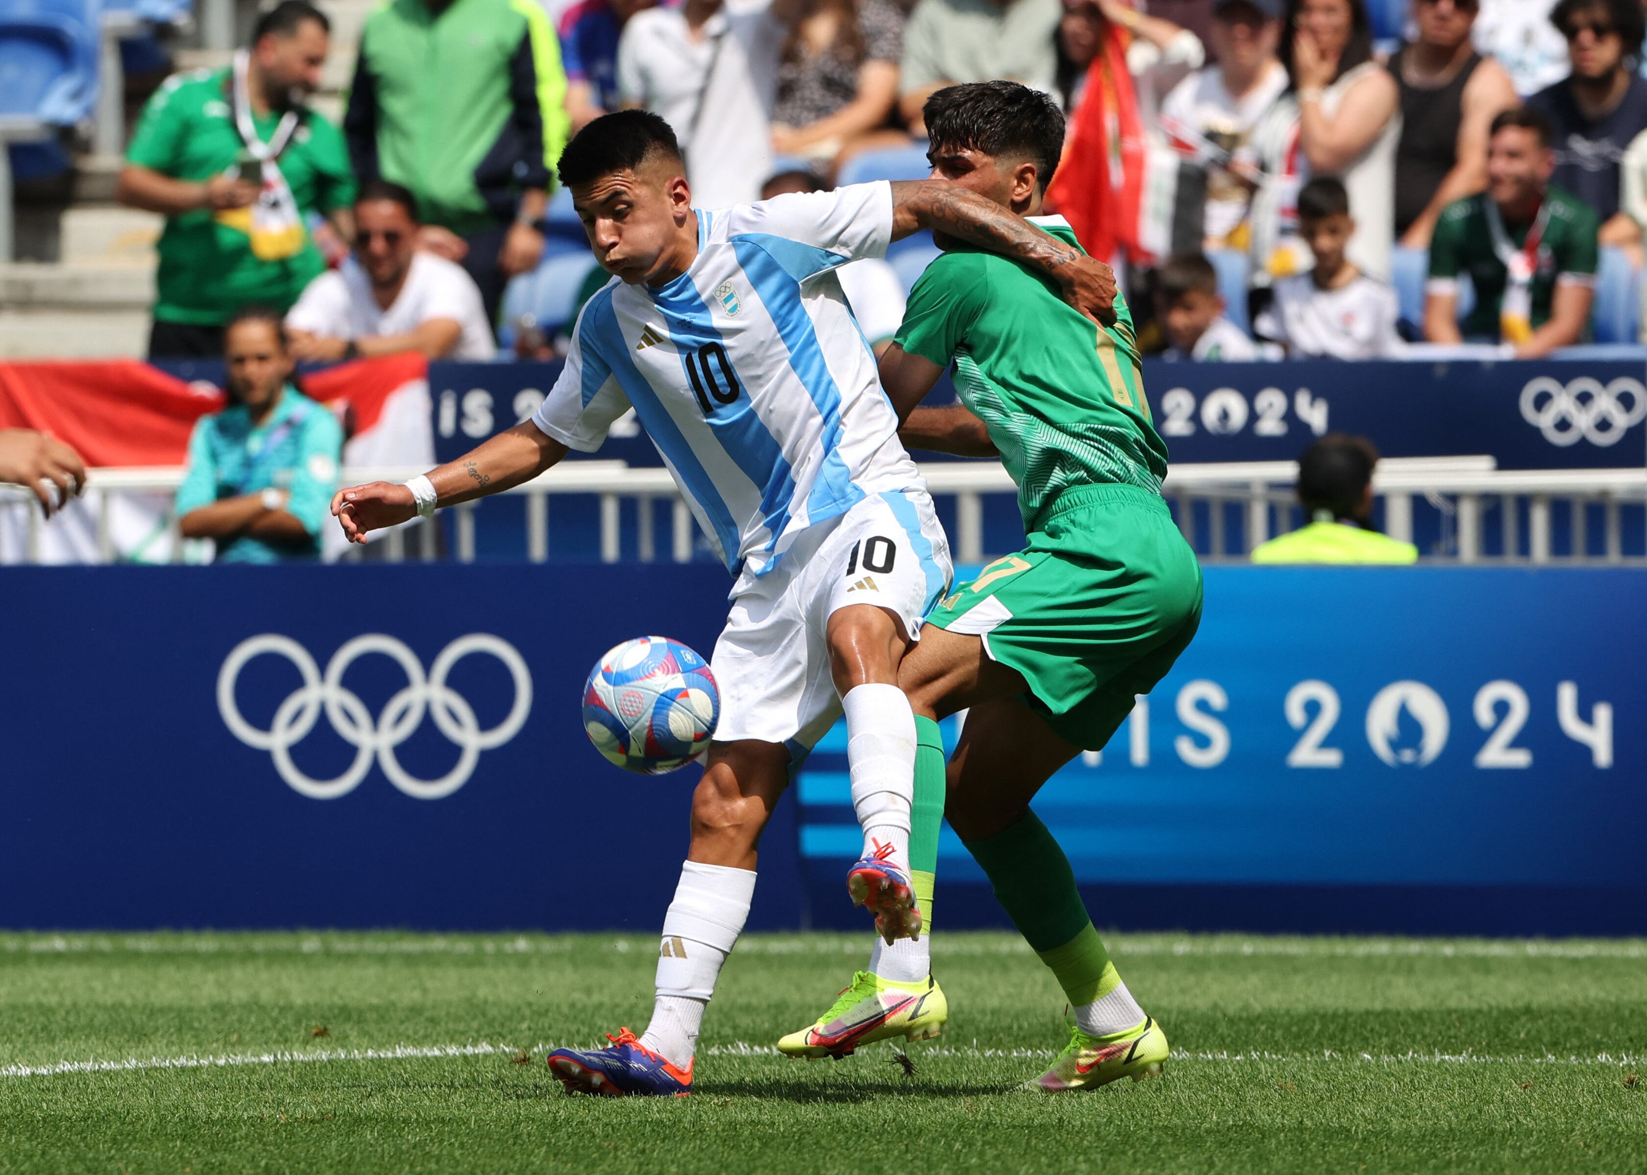
POLYGON ((496 323, 537 267, 567 76, 537 0, 389 0, 366 20, 343 130, 356 174, 417 196, 418 244, 458 262, 496 323))

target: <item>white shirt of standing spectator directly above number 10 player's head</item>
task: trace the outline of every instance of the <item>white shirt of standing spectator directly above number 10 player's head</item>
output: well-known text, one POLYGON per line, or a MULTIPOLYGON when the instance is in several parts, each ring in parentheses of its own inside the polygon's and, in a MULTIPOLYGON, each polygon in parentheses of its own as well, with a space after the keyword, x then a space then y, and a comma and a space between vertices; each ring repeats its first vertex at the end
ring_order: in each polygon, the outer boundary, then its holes
POLYGON ((763 12, 718 12, 703 23, 702 39, 687 33, 680 8, 631 16, 618 41, 618 92, 674 127, 697 207, 751 202, 772 174, 782 30, 763 12))

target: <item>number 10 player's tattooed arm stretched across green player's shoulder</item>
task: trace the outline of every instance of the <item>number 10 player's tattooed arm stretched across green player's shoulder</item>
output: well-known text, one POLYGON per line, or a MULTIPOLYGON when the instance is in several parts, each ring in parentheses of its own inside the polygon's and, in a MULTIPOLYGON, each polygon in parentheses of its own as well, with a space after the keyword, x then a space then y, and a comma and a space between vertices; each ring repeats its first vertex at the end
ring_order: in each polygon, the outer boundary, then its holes
POLYGON ((893 183, 893 240, 921 229, 1033 265, 1057 281, 1064 301, 1100 326, 1115 323, 1115 273, 1074 245, 1041 232, 1000 204, 942 179, 893 183))

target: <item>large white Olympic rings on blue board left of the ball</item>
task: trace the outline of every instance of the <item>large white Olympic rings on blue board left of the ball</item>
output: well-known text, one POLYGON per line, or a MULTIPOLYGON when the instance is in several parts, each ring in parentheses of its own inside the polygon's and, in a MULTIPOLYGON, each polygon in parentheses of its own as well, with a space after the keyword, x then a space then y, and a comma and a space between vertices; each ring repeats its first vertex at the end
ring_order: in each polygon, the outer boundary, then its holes
POLYGON ((441 648, 428 676, 423 675, 423 666, 410 648, 380 632, 356 637, 343 645, 326 663, 324 675, 303 645, 292 637, 265 632, 236 645, 217 673, 217 711, 222 714, 224 724, 245 745, 268 750, 280 778, 293 792, 311 800, 336 800, 348 795, 372 770, 374 760, 384 769, 389 782, 410 796, 418 800, 448 796, 469 782, 483 750, 501 747, 520 732, 530 709, 532 675, 527 671, 525 658, 507 640, 484 632, 458 637, 441 648), (268 729, 260 731, 240 714, 234 688, 245 663, 265 653, 280 655, 292 662, 303 676, 303 685, 280 703, 268 729), (376 721, 366 709, 366 703, 343 685, 343 675, 349 666, 369 653, 394 658, 407 675, 405 688, 389 699, 376 721), (451 666, 471 653, 491 653, 514 678, 514 706, 504 721, 489 731, 481 729, 474 709, 463 694, 446 685, 451 666), (292 762, 292 747, 308 737, 315 722, 320 721, 321 711, 344 742, 356 749, 349 769, 329 780, 310 778, 292 762), (458 764, 435 780, 417 778, 395 757, 395 747, 410 739, 412 732, 422 726, 425 711, 435 719, 435 727, 461 749, 458 764))

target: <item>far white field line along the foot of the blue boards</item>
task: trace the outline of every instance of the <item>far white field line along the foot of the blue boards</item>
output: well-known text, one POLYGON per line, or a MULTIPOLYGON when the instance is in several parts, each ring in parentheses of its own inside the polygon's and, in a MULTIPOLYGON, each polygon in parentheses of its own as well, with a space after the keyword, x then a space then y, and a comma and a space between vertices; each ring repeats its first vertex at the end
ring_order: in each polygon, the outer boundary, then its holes
MULTIPOLYGON (((1461 959, 1647 959, 1642 940, 1446 940, 1446 938, 1248 938, 1235 935, 1105 935, 1117 956, 1281 956, 1281 958, 1461 958, 1461 959)), ((152 935, 0 935, 0 954, 567 954, 609 950, 651 954, 651 936, 624 938, 371 938, 354 935, 152 936, 152 935)), ((743 954, 863 954, 868 935, 751 935, 743 954)), ((998 935, 939 933, 937 956, 1029 954, 1023 940, 998 935)))

